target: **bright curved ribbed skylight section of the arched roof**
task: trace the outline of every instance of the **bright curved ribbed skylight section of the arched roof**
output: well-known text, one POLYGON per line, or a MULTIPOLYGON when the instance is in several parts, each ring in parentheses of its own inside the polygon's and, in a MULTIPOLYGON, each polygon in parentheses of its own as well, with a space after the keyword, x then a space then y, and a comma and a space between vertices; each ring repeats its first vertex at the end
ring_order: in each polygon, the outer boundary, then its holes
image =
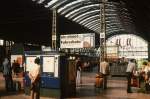
MULTIPOLYGON (((105 5, 107 34, 134 31, 129 29, 132 20, 124 3, 108 1, 105 5)), ((100 32, 100 6, 101 0, 51 0, 45 5, 96 33, 100 32)))

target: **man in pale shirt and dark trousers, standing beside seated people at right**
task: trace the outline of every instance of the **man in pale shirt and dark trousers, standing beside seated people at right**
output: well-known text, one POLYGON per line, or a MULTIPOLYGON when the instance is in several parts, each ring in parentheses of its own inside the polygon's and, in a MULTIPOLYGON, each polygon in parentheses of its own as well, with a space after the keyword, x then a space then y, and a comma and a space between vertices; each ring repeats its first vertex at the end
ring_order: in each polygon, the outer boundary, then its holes
POLYGON ((131 77, 132 74, 135 73, 135 69, 136 69, 135 59, 131 59, 128 63, 127 70, 126 70, 127 80, 128 80, 127 93, 131 93, 131 77))

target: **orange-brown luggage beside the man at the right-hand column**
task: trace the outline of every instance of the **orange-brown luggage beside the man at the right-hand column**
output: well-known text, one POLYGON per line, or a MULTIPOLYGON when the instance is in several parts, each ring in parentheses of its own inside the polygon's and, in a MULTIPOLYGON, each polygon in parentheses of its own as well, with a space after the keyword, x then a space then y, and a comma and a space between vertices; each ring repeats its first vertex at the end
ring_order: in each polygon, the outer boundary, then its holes
POLYGON ((103 87, 103 75, 102 74, 96 74, 95 87, 96 88, 102 88, 103 87))

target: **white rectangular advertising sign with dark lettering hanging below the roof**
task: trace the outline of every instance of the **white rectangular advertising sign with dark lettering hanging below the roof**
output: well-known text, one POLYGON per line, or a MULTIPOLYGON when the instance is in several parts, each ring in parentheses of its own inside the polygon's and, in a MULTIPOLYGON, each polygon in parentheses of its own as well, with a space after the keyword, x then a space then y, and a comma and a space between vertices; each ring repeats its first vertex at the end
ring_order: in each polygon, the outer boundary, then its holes
POLYGON ((60 48, 95 47, 95 34, 69 34, 60 36, 60 48))

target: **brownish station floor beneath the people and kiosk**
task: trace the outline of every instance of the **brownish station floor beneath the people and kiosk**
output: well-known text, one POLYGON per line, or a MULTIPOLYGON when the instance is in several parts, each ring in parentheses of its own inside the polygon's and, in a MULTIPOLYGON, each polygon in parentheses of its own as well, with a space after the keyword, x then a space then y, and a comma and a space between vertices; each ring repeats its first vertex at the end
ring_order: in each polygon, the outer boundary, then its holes
MULTIPOLYGON (((139 93, 136 90, 133 93, 127 93, 127 81, 125 77, 109 77, 108 89, 103 90, 94 87, 96 73, 83 72, 82 84, 77 87, 75 97, 68 99, 150 99, 150 94, 139 93)), ((4 78, 0 74, 0 99, 29 99, 24 91, 6 92, 4 89, 4 78)), ((54 99, 51 97, 40 97, 40 99, 54 99)))

